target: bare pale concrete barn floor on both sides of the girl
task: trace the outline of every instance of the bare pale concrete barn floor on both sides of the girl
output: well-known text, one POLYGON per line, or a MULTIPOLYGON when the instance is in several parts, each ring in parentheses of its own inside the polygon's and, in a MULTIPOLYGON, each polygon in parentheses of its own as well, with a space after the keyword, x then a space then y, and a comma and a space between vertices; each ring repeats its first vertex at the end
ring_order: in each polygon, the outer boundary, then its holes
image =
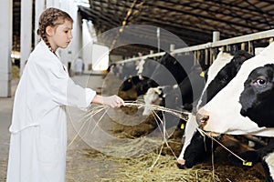
MULTIPOLYGON (((73 80, 80 86, 89 86, 92 89, 100 92, 102 87, 102 76, 73 76, 73 80)), ((12 107, 14 102, 14 94, 18 80, 12 81, 12 97, 0 98, 0 182, 5 181, 6 164, 8 158, 9 137, 8 127, 11 123, 12 107)), ((70 114, 73 115, 73 110, 70 114)), ((83 142, 79 137, 76 137, 74 126, 68 121, 68 155, 67 155, 67 180, 73 181, 101 181, 102 177, 110 177, 109 174, 112 167, 116 164, 111 164, 100 159, 89 158, 87 160, 87 150, 92 151, 92 148, 83 142), (71 143, 71 141, 73 141, 71 143)), ((93 151, 97 153, 97 151, 93 151)), ((91 152, 92 153, 92 152, 91 152)))

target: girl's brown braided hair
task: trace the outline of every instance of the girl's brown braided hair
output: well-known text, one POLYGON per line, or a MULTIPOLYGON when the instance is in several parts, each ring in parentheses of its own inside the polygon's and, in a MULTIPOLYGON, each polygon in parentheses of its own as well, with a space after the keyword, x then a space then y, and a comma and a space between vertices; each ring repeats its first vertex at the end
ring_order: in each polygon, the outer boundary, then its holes
POLYGON ((40 35, 44 40, 49 50, 54 53, 48 38, 46 28, 47 26, 56 27, 57 25, 64 24, 65 20, 73 23, 73 19, 68 13, 54 7, 47 8, 39 17, 39 25, 37 29, 37 35, 40 35))

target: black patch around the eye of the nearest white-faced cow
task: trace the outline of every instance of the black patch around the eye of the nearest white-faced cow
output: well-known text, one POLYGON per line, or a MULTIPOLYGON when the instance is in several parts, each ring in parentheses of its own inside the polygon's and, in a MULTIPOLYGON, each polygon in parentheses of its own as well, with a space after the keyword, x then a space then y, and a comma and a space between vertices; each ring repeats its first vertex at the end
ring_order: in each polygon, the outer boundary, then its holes
POLYGON ((239 102, 240 114, 258 126, 274 127, 274 64, 260 66, 248 76, 239 102))

